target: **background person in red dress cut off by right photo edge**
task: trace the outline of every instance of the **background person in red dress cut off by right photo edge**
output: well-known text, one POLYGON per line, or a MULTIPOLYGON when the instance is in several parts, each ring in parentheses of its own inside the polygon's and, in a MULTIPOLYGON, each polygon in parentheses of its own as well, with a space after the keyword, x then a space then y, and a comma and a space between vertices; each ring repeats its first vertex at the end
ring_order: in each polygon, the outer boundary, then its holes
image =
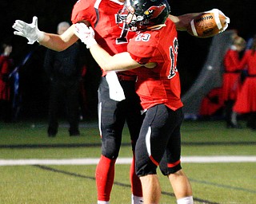
POLYGON ((256 130, 256 35, 250 49, 242 57, 239 65, 242 69, 246 67, 247 76, 238 92, 237 100, 234 104, 234 112, 249 114, 247 127, 256 130))

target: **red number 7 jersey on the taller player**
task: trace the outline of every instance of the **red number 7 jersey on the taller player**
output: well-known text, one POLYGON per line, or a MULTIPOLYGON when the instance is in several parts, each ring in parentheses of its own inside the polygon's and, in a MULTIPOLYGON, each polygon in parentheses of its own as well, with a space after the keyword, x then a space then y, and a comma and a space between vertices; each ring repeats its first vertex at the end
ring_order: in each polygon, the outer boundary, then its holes
MULTIPOLYGON (((95 40, 110 55, 127 51, 128 41, 134 32, 118 26, 118 11, 122 10, 123 2, 118 0, 79 0, 74 5, 71 21, 73 23, 86 20, 95 31, 95 40)), ((132 71, 126 71, 126 74, 132 71)))

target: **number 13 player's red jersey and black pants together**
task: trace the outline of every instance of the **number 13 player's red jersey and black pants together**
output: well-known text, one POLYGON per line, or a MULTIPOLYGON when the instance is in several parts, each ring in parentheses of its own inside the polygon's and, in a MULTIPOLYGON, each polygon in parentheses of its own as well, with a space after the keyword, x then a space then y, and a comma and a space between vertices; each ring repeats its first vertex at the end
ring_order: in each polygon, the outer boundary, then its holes
POLYGON ((140 67, 136 92, 140 96, 145 119, 136 143, 136 174, 163 175, 180 170, 182 101, 176 69, 178 39, 174 22, 158 30, 137 33, 128 45, 128 52, 140 64, 156 63, 153 69, 140 67), (160 163, 161 161, 161 163, 160 163))

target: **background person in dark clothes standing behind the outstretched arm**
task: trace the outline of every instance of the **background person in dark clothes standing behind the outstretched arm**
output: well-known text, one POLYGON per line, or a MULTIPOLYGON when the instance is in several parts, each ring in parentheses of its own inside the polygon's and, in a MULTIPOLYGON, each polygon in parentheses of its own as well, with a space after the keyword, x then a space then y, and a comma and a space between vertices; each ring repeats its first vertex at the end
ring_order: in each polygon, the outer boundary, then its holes
MULTIPOLYGON (((57 33, 62 34, 69 27, 68 22, 60 22, 57 33)), ((66 102, 70 136, 80 135, 78 124, 82 65, 80 65, 79 58, 78 42, 62 52, 52 49, 46 51, 44 68, 46 74, 50 77, 49 124, 47 130, 49 137, 54 137, 58 132, 58 113, 63 102, 66 102)))

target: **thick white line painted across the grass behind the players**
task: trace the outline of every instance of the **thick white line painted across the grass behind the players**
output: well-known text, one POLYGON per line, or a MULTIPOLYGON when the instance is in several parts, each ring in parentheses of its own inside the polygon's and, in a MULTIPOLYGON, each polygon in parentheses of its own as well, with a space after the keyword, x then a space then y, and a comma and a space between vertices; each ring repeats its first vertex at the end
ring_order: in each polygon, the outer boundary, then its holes
MULTIPOLYGON (((95 165, 99 159, 0 159, 0 166, 20 165, 95 165)), ((117 164, 129 164, 131 158, 118 158, 117 164)), ((256 156, 184 156, 182 163, 256 163, 256 156)))

